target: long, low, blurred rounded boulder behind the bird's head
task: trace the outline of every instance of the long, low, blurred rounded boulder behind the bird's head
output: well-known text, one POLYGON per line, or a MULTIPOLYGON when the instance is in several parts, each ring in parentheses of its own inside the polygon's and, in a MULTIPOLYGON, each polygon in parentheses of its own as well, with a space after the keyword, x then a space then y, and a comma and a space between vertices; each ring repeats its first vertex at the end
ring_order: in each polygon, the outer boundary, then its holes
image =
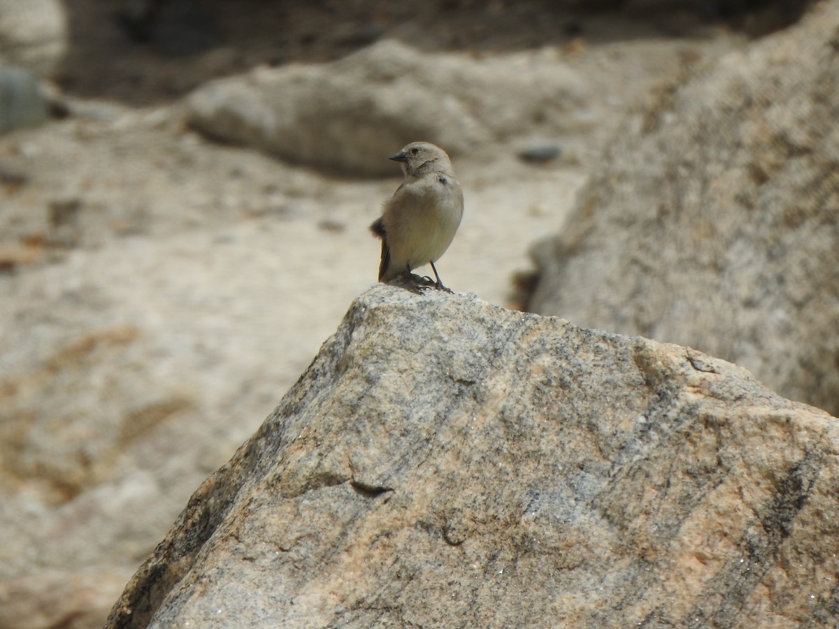
POLYGON ((550 55, 475 60, 385 40, 331 64, 214 81, 190 97, 188 115, 212 138, 352 174, 393 174, 382 156, 394 147, 423 139, 456 156, 525 130, 562 128, 585 93, 550 55))

